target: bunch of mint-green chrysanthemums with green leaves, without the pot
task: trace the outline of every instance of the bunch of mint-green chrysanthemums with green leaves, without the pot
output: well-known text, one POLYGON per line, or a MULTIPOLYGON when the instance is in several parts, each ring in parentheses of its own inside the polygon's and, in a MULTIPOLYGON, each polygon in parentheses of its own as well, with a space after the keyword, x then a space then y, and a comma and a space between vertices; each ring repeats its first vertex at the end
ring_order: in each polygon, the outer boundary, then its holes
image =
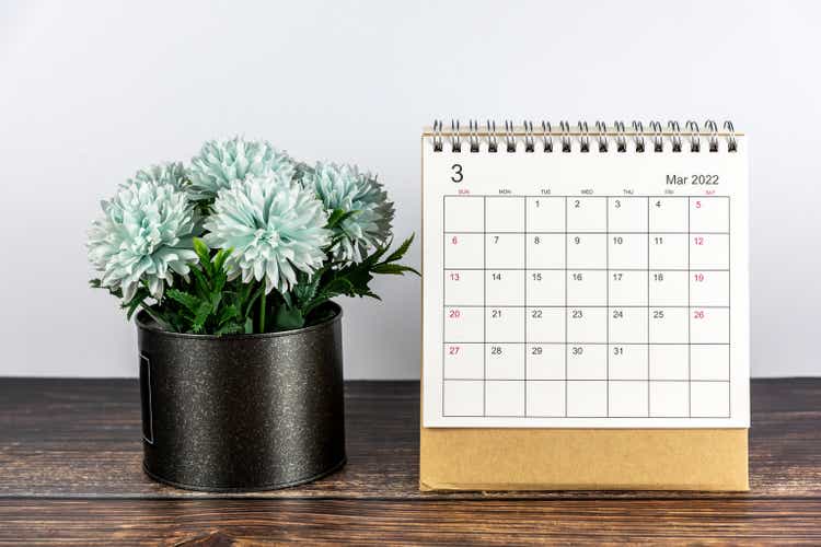
POLYGON ((323 321, 338 295, 377 296, 373 274, 416 272, 393 253, 394 208, 375 177, 293 161, 265 141, 207 142, 103 201, 91 284, 175 333, 230 335, 323 321))

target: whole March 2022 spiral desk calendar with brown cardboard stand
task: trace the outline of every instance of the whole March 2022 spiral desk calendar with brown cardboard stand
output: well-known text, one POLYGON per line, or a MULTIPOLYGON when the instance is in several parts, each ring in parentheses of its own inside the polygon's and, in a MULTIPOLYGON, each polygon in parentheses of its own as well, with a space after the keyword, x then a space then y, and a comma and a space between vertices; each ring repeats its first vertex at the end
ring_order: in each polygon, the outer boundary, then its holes
POLYGON ((420 488, 747 490, 744 137, 494 127, 423 136, 420 488))

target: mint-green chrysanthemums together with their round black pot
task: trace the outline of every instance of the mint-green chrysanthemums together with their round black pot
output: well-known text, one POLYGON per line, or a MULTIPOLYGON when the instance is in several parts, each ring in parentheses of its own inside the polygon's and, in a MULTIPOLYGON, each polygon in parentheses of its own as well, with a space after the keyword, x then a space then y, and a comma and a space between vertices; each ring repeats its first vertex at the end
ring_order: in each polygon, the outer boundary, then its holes
POLYGON ((136 314, 146 472, 233 491, 344 465, 332 299, 379 298, 374 275, 417 274, 400 264, 413 236, 391 251, 377 178, 233 138, 139 171, 102 209, 91 286, 136 314))

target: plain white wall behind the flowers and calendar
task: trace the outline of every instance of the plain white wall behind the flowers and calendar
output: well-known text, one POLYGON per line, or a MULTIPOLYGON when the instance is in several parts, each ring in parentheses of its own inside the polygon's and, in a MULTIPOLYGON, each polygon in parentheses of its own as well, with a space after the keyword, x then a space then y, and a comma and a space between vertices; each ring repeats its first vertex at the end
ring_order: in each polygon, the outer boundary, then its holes
MULTIPOLYGON (((821 374, 819 20, 812 1, 2 2, 0 374, 136 374, 84 240, 137 168, 267 138, 378 172, 405 236, 420 128, 452 116, 731 118, 751 135, 752 373, 821 374)), ((346 375, 418 377, 419 281, 374 288, 343 302, 346 375)))

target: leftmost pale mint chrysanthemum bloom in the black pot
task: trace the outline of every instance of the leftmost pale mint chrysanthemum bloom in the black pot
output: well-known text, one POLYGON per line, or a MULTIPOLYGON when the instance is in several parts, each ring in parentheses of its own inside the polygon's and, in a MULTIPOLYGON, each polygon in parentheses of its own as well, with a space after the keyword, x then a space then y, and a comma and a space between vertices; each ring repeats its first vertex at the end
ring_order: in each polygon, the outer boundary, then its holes
POLYGON ((160 300, 173 274, 186 276, 197 260, 192 249, 196 214, 184 191, 171 184, 134 179, 102 202, 103 217, 89 231, 89 259, 101 284, 131 300, 144 281, 160 300))

